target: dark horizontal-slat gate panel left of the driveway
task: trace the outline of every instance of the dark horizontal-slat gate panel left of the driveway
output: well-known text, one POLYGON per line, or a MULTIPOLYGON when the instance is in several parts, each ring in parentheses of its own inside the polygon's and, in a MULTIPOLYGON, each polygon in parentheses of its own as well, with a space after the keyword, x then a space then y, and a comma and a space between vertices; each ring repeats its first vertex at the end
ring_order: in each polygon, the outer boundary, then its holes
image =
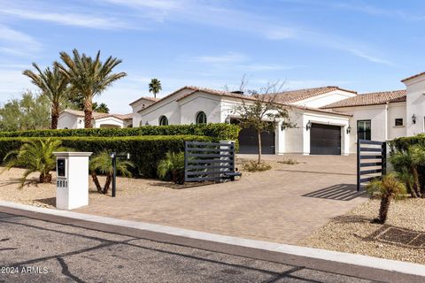
POLYGON ((235 159, 235 142, 184 142, 184 181, 228 179, 235 159))

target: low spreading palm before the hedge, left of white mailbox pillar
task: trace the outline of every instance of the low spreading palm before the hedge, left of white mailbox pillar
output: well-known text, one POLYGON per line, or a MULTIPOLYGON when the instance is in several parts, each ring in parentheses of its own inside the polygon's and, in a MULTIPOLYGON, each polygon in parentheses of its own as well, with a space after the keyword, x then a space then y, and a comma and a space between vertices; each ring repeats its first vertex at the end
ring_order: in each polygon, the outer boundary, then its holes
POLYGON ((20 187, 24 187, 27 177, 33 172, 40 172, 40 183, 50 183, 50 172, 56 166, 53 152, 64 150, 61 144, 61 141, 51 138, 27 140, 20 149, 12 150, 4 157, 6 170, 12 167, 26 168, 20 179, 20 187))

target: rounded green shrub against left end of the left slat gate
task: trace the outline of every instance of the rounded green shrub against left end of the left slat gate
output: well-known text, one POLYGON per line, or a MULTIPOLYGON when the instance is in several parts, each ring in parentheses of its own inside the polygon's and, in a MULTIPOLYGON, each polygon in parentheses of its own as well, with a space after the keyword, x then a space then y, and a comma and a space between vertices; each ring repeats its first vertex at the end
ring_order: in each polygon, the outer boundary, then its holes
POLYGON ((158 176, 163 180, 184 183, 184 152, 167 152, 166 158, 158 163, 158 176))

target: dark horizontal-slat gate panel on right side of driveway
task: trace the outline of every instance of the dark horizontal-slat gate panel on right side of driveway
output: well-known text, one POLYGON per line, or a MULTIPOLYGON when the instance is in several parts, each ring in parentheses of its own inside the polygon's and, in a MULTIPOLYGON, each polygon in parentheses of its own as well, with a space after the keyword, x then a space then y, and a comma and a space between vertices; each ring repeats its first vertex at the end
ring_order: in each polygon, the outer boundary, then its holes
POLYGON ((357 190, 361 184, 382 177, 386 171, 386 142, 357 141, 357 190), (373 168, 372 168, 373 167, 373 168), (371 176, 372 175, 372 176, 371 176))

